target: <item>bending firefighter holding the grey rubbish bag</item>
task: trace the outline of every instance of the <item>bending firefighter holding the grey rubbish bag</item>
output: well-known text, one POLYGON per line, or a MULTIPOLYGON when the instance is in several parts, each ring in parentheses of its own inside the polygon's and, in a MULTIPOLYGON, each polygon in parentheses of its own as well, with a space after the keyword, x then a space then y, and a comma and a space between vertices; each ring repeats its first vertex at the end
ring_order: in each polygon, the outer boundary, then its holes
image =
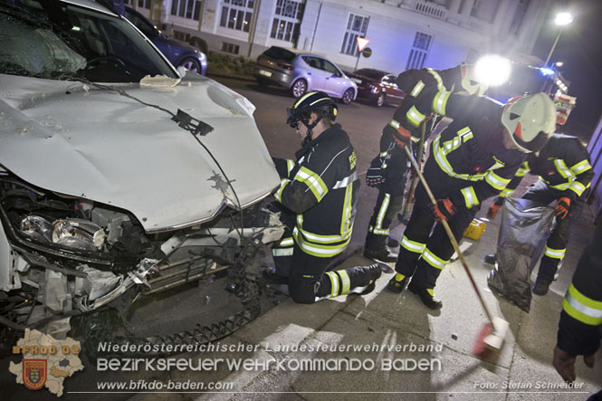
POLYGON ((594 176, 594 170, 589 164, 588 150, 578 138, 554 134, 540 152, 527 157, 516 177, 489 208, 488 217, 495 218, 504 198, 512 195, 528 172, 540 177, 522 198, 545 205, 556 202, 556 224, 549 234, 532 288, 534 294, 545 295, 567 250, 572 216, 580 215, 583 193, 594 176))

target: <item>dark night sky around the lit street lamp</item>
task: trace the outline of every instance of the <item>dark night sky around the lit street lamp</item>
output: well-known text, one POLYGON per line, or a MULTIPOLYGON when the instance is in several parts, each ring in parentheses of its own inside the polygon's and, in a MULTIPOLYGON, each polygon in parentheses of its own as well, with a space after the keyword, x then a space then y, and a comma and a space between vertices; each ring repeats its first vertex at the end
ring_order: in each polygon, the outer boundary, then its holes
POLYGON ((577 96, 577 107, 570 114, 566 132, 588 139, 602 114, 602 1, 553 3, 534 49, 543 61, 559 32, 554 17, 563 8, 573 15, 573 22, 561 33, 550 63, 564 62, 559 71, 571 81, 569 95, 577 96))

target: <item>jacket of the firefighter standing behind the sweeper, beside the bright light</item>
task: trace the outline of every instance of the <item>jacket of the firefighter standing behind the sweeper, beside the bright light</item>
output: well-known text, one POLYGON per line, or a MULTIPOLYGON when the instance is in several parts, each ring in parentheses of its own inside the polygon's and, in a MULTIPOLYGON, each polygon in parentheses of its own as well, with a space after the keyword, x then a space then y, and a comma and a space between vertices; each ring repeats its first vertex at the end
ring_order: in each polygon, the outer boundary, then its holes
MULTIPOLYGON (((454 91, 462 89, 462 70, 458 65, 447 70, 435 71, 431 68, 422 70, 407 70, 397 77, 397 87, 406 93, 406 98, 395 111, 393 119, 383 129, 380 140, 380 152, 385 152, 388 145, 393 141, 394 131, 399 129, 400 121, 412 122, 406 127, 412 134, 412 142, 420 140, 418 126, 418 112, 416 110, 416 99, 421 93, 436 89, 437 91, 454 91)), ((430 113, 429 113, 430 114, 430 113)), ((428 132, 427 132, 428 135, 428 132)))

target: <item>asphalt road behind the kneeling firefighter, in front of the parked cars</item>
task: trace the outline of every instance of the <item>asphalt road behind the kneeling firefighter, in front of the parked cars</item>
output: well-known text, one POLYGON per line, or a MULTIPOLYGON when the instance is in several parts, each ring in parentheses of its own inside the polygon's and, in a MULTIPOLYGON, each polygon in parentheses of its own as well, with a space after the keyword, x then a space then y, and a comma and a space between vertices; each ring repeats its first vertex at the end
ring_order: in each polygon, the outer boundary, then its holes
MULTIPOLYGON (((270 86, 260 88, 254 81, 232 78, 211 77, 225 84, 250 100, 257 110, 254 117, 263 140, 275 158, 292 158, 301 148, 299 137, 286 123, 286 109, 292 106, 294 98, 284 89, 270 86)), ((377 189, 365 184, 366 170, 372 158, 377 156, 378 141, 383 127, 392 118, 395 108, 385 105, 382 108, 370 105, 367 101, 353 101, 349 105, 339 103, 339 122, 349 134, 351 143, 358 155, 358 175, 361 189, 358 199, 358 215, 354 225, 350 251, 363 246, 368 228, 368 220, 375 205, 377 189)), ((394 222, 394 224, 397 222, 394 222)))

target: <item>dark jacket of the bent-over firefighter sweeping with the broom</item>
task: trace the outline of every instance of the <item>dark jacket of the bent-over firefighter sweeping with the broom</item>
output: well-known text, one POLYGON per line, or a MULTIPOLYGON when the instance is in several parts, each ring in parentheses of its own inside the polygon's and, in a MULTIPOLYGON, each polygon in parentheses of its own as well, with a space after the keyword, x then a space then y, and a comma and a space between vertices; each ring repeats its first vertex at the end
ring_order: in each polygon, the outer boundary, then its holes
POLYGON ((494 100, 435 89, 420 96, 414 108, 416 118, 401 121, 406 129, 417 127, 431 112, 454 119, 433 139, 430 158, 455 179, 454 188, 460 187, 449 196, 456 206, 470 209, 498 195, 526 158, 504 147, 508 134, 502 126, 502 105, 494 100))

